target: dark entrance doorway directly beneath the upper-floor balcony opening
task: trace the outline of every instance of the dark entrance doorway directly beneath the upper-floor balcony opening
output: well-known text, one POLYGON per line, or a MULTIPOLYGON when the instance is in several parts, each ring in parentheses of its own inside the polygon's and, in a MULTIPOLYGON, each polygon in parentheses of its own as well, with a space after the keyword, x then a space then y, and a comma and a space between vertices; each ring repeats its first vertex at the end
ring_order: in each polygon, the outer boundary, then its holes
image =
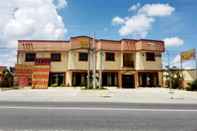
POLYGON ((122 88, 135 88, 134 75, 122 75, 122 88))

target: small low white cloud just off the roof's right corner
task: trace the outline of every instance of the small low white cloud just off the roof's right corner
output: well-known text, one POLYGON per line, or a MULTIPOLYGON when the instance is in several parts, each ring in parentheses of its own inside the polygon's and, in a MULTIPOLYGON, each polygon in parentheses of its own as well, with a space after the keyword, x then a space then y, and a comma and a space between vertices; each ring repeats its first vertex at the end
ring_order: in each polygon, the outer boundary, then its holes
POLYGON ((165 46, 181 46, 184 44, 184 40, 179 37, 171 37, 164 39, 165 46))

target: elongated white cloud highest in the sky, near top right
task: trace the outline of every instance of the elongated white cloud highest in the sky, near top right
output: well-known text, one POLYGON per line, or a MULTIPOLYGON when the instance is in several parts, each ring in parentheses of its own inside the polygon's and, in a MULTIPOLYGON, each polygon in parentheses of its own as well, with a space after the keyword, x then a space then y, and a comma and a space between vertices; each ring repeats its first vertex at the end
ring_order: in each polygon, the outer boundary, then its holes
POLYGON ((146 4, 138 10, 138 13, 146 14, 147 16, 168 16, 175 10, 169 4, 146 4))

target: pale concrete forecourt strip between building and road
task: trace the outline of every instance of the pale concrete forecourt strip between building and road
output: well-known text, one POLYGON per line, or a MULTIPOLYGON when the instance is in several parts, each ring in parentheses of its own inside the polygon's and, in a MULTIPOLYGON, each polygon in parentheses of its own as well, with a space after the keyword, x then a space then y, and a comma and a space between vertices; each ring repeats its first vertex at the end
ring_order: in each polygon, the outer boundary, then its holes
POLYGON ((197 104, 197 92, 167 88, 81 90, 80 88, 19 89, 0 91, 0 101, 117 102, 197 104))

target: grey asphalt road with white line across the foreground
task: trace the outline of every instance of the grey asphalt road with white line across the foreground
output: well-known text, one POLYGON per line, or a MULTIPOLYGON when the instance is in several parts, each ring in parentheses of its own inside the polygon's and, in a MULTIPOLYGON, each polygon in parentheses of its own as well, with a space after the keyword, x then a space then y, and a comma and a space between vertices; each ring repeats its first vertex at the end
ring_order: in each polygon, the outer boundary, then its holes
POLYGON ((197 131, 197 105, 0 102, 0 130, 197 131))

